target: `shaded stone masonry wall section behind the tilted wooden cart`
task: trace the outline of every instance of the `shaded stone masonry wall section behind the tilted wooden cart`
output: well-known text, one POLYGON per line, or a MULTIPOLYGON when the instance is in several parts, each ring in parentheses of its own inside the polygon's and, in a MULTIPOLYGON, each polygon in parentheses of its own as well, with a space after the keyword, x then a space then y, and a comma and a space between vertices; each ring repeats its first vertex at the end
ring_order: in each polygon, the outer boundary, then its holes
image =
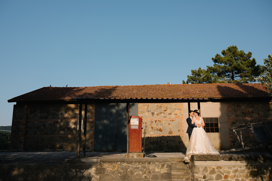
MULTIPOLYGON (((245 122, 259 123, 272 119, 271 102, 230 102, 227 103, 228 109, 228 125, 232 129, 245 122)), ((240 134, 238 134, 240 135, 240 134)), ((242 138, 244 146, 252 146, 257 144, 257 140, 250 129, 242 130, 242 138)), ((239 148, 241 145, 233 132, 229 132, 229 140, 231 148, 239 148)))

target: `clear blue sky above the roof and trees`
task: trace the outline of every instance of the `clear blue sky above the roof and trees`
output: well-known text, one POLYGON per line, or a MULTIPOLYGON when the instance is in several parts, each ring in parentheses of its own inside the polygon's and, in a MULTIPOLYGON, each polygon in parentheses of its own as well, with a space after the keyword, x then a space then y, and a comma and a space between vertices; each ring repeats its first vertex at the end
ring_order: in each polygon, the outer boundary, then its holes
POLYGON ((0 125, 41 87, 182 84, 228 46, 272 54, 272 1, 0 1, 0 125))

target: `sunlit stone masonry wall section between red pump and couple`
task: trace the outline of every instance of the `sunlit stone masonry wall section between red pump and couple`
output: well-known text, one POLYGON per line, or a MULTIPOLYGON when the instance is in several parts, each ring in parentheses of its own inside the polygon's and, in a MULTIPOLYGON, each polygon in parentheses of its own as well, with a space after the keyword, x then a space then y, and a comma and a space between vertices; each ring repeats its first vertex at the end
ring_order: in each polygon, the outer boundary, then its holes
POLYGON ((185 151, 182 103, 139 103, 138 115, 145 128, 145 151, 185 151))

